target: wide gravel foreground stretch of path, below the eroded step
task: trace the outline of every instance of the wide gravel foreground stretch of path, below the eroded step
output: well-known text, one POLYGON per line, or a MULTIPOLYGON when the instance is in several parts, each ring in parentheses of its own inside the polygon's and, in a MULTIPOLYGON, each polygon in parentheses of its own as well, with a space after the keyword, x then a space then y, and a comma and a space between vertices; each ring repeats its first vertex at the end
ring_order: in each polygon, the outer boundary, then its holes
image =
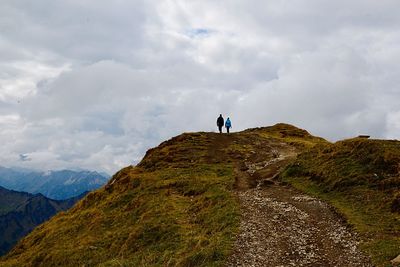
POLYGON ((274 185, 237 194, 242 221, 228 266, 372 266, 320 200, 274 185))

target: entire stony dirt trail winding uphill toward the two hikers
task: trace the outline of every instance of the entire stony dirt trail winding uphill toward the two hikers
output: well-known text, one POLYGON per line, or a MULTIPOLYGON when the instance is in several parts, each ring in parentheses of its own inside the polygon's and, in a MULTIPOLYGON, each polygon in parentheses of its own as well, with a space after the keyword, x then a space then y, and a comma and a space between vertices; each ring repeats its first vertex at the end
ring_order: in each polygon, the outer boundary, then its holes
MULTIPOLYGON (((223 156, 228 139, 216 141, 211 153, 223 156)), ((296 150, 263 145, 269 150, 250 153, 236 171, 242 220, 227 266, 372 266, 357 235, 329 205, 276 180, 296 150)))

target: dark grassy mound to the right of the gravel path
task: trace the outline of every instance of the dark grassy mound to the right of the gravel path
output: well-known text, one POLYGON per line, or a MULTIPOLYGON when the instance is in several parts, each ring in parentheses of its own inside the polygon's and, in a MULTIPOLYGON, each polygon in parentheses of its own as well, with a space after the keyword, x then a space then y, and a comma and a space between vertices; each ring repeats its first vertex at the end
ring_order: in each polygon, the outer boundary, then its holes
POLYGON ((400 142, 356 138, 319 145, 282 178, 335 206, 377 266, 400 253, 400 142))

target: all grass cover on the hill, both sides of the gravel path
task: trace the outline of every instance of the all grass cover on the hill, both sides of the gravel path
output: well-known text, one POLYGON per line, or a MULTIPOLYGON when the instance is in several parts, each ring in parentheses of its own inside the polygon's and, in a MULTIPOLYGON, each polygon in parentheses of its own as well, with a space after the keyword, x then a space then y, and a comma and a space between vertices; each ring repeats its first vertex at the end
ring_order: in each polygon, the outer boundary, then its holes
POLYGON ((229 135, 185 133, 163 142, 136 167, 117 172, 36 228, 0 264, 224 266, 240 222, 235 191, 280 171, 257 165, 279 158, 277 151, 291 155, 281 159, 289 167, 280 178, 337 207, 362 233, 377 265, 396 256, 398 142, 331 144, 277 124, 229 135))

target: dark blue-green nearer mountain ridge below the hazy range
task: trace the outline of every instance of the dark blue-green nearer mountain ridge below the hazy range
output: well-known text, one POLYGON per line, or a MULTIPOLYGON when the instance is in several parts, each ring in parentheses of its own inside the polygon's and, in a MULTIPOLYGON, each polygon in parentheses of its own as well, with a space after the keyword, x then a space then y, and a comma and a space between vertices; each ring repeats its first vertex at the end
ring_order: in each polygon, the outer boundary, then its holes
POLYGON ((84 192, 67 200, 53 200, 42 194, 17 192, 0 186, 0 255, 37 225, 59 211, 69 209, 86 194, 84 192))

